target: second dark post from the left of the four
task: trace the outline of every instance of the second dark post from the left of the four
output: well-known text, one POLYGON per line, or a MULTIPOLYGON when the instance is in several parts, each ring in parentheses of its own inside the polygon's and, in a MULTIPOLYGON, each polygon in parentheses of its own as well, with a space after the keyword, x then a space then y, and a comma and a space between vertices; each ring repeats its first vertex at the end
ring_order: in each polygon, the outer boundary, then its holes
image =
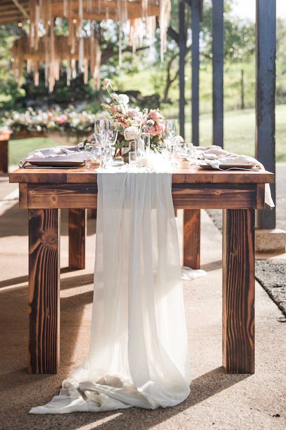
POLYGON ((200 0, 192 2, 192 142, 199 145, 200 0))

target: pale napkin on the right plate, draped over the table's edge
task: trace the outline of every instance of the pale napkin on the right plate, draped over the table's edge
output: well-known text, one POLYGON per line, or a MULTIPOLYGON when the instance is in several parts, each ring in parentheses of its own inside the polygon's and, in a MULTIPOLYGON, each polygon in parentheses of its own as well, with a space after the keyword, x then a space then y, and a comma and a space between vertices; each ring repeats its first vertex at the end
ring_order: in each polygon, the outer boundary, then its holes
MULTIPOLYGON (((237 155, 233 152, 225 151, 220 147, 212 147, 206 149, 204 151, 200 151, 200 155, 205 156, 204 163, 209 164, 214 169, 220 169, 220 164, 247 164, 251 163, 256 165, 259 169, 265 170, 263 164, 261 164, 254 157, 249 157, 246 155, 237 155), (210 154, 213 155, 212 159, 209 159, 210 154)), ((269 183, 265 184, 265 203, 273 208, 274 202, 271 197, 270 185, 269 183)))

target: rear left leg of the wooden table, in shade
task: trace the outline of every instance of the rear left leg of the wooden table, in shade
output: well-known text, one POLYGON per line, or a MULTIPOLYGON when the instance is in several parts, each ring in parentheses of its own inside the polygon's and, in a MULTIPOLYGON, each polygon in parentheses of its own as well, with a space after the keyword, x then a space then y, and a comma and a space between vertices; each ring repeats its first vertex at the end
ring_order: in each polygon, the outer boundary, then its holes
POLYGON ((85 268, 86 210, 68 209, 68 266, 85 268))

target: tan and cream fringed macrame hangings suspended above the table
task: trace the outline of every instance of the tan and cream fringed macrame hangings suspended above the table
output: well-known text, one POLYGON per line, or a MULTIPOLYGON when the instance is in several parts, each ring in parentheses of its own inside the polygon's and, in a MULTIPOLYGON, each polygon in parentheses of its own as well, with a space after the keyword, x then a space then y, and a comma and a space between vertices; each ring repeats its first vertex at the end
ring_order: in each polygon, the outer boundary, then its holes
POLYGON ((171 0, 29 0, 29 35, 15 41, 12 48, 14 71, 20 79, 24 63, 33 71, 34 83, 39 83, 39 66, 45 68, 45 81, 52 91, 59 79, 60 67, 66 66, 67 84, 77 71, 88 72, 98 87, 100 82, 100 46, 94 21, 113 19, 119 21, 119 64, 122 62, 122 35, 129 32, 129 42, 134 53, 148 38, 154 43, 156 17, 161 39, 161 59, 166 51, 171 0), (68 36, 55 35, 55 20, 64 18, 68 23, 68 36), (85 22, 84 22, 85 21, 85 22), (83 32, 87 24, 89 34, 83 32), (84 35, 83 35, 84 33, 84 35))

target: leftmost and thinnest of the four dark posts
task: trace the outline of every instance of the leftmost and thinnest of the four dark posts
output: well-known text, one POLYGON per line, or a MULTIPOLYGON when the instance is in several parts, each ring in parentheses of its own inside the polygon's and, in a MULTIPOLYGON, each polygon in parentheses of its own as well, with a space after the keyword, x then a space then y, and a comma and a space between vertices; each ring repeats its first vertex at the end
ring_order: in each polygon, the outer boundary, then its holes
POLYGON ((179 57, 179 78, 180 78, 180 134, 185 138, 185 2, 181 0, 179 4, 179 34, 178 45, 180 48, 179 57))

